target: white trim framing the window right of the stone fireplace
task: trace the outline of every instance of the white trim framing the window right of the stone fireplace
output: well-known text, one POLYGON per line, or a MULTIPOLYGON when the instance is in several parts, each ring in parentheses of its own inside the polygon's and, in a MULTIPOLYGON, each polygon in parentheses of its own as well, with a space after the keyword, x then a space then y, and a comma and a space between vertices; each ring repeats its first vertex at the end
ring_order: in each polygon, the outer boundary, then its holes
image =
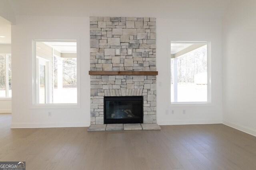
POLYGON ((191 106, 213 106, 212 83, 211 83, 211 41, 172 41, 168 39, 168 106, 169 107, 191 107, 191 106), (172 43, 206 43, 207 44, 207 102, 171 102, 171 42, 172 43))

